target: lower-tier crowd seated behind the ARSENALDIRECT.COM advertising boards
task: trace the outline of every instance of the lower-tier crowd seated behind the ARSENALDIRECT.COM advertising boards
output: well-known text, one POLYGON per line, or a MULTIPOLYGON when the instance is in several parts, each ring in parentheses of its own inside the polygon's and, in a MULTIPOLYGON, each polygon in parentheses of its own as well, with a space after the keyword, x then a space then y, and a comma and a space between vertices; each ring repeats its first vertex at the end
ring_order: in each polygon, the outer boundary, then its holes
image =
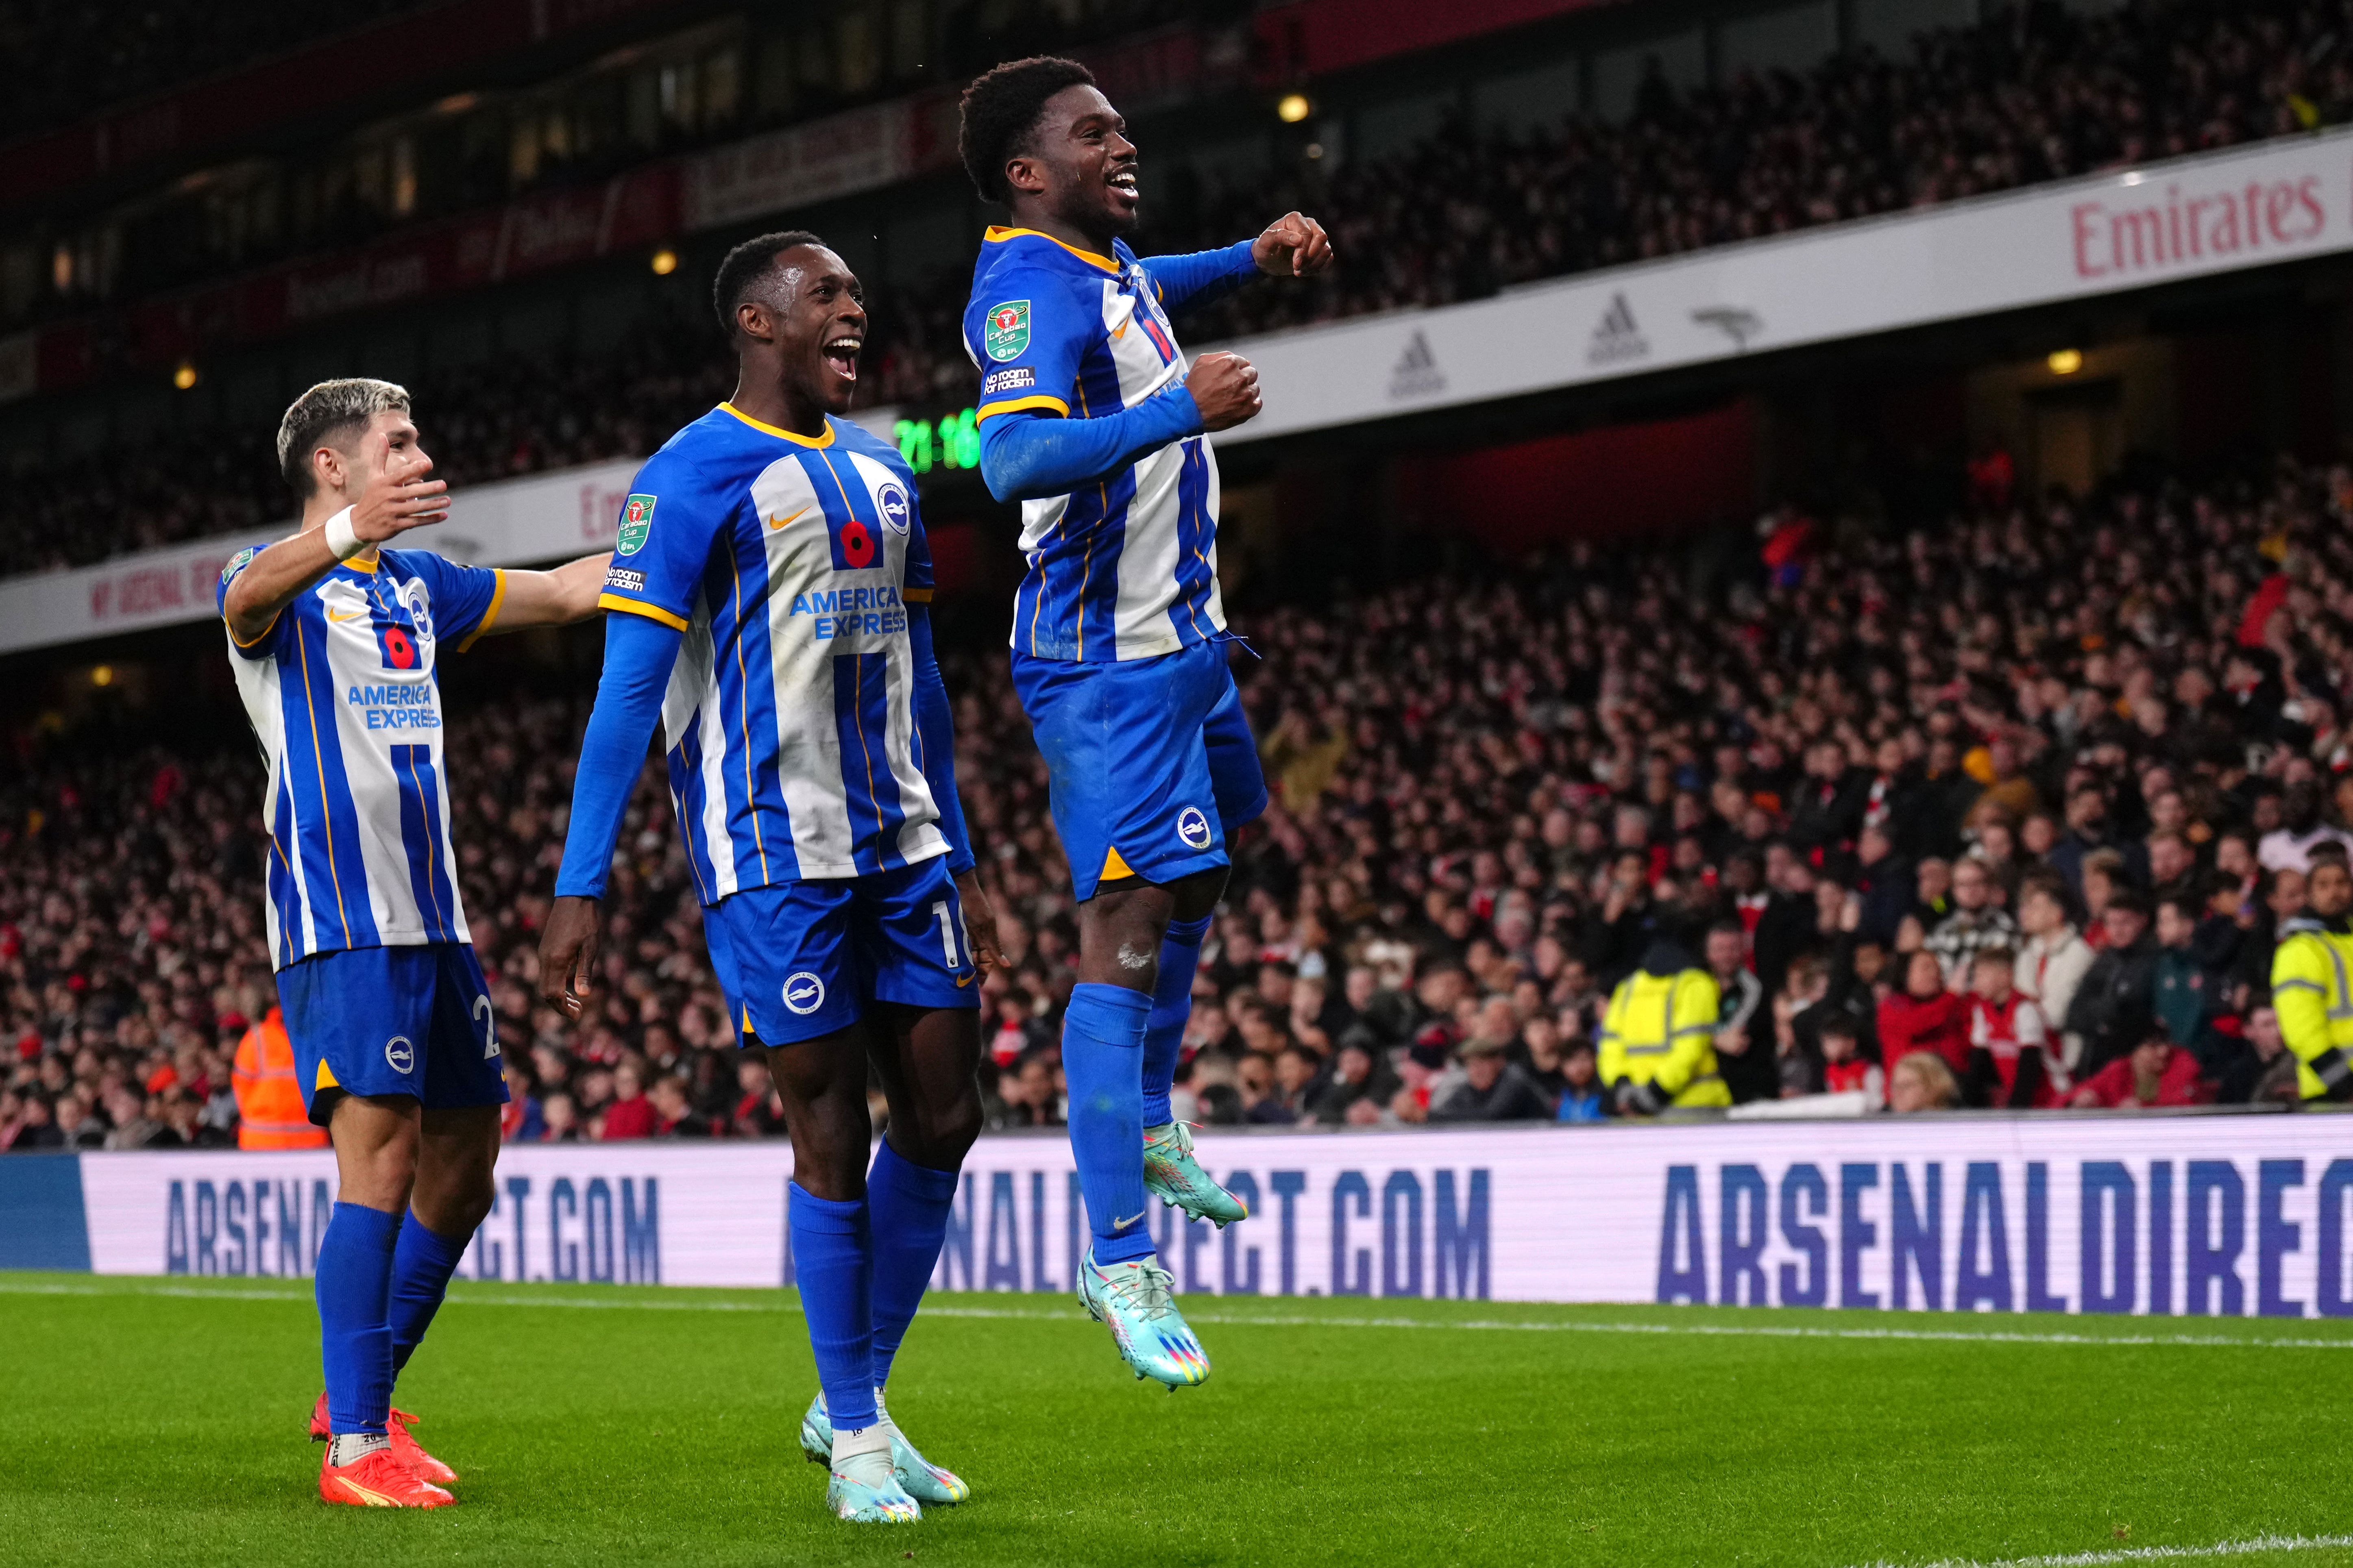
MULTIPOLYGON (((1254 616, 1275 806, 1202 954, 1207 1124, 1598 1119, 1612 987, 1720 987, 1737 1100, 2297 1098, 2268 1006, 2306 872, 2353 844, 2353 470, 2280 461, 1920 531, 1765 520, 1254 616)), ((995 1128, 1061 1119, 1068 872, 1002 654, 955 654, 958 769, 1009 973, 995 1128)), ((602 1009, 536 1001, 588 693, 452 698, 466 903, 513 1138, 767 1135, 656 766, 602 1009)), ((221 717, 235 733, 235 715, 221 717)), ((231 1138, 268 1009, 252 755, 28 745, 0 783, 0 1147, 231 1138)))

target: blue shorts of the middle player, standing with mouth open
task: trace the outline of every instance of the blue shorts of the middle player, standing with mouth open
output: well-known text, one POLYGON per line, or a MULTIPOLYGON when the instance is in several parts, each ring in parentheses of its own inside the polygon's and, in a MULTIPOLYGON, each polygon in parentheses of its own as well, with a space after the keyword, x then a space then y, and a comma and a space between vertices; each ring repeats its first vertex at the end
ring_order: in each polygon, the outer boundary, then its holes
POLYGON ((946 856, 729 893, 704 910, 704 943, 744 1044, 847 1030, 868 1001, 981 1004, 946 856))

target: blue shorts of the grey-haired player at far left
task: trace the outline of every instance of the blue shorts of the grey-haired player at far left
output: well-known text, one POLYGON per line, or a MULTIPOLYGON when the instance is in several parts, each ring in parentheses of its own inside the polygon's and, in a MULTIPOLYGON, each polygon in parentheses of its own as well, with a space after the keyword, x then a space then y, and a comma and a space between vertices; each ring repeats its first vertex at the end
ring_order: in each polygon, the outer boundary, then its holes
POLYGON ((499 1018, 473 943, 348 947, 278 971, 311 1121, 336 1091, 412 1095, 426 1110, 506 1105, 499 1018))

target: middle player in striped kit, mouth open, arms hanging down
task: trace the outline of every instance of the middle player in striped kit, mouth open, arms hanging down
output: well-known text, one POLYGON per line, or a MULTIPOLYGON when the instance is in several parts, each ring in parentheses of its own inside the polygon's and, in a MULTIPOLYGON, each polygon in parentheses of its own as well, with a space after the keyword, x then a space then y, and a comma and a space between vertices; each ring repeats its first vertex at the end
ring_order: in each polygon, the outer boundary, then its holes
POLYGON ((605 578, 541 990, 579 1016, 598 898, 656 715, 711 969, 767 1051, 793 1138, 793 1276, 819 1396, 802 1450, 861 1523, 969 1488, 882 1406, 981 1128, 979 985, 995 922, 955 799, 915 475, 840 418, 859 280, 809 233, 746 240, 713 284, 736 393, 664 444, 605 578), (873 1150, 868 1060, 889 1095, 873 1150))

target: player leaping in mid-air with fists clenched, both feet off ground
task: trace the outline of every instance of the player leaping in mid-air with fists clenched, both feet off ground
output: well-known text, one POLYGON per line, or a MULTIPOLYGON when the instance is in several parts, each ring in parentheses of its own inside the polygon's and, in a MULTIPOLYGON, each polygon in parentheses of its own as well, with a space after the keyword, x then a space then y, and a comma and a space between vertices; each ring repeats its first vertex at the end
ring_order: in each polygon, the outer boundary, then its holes
POLYGON ((1146 1190, 1195 1220, 1242 1204, 1193 1157, 1169 1084, 1193 971, 1226 889, 1226 842, 1266 809, 1226 668, 1217 456, 1259 411, 1238 355, 1186 362, 1169 315, 1261 273, 1332 266, 1297 212, 1254 240, 1136 261, 1136 146, 1085 66, 1024 59, 965 89, 960 150, 991 228, 965 306, 981 371, 981 477, 1021 501, 1014 686, 1052 771, 1078 896, 1064 1020, 1071 1152, 1092 1246, 1078 1295, 1136 1378, 1209 1375, 1153 1255, 1146 1190))

